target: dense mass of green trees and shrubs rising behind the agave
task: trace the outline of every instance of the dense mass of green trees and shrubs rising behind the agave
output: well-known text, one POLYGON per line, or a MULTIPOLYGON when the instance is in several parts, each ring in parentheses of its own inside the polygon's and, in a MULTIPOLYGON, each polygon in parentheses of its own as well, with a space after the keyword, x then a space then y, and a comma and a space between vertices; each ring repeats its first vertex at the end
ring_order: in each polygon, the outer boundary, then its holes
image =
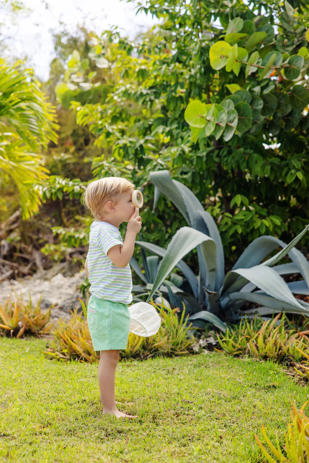
MULTIPOLYGON (((95 175, 140 186, 149 172, 169 170, 217 221, 229 261, 264 233, 299 234, 308 208, 307 9, 298 1, 285 2, 285 11, 266 2, 263 13, 259 2, 250 5, 223 2, 213 13, 208 1, 147 0, 138 9, 161 19, 156 30, 135 42, 116 29, 89 41, 89 66, 108 63, 95 68, 113 85, 104 103, 72 103, 77 123, 108 151, 95 160, 95 175), (238 194, 247 205, 231 206, 238 194)), ((79 66, 88 81, 82 59, 79 66)), ((184 225, 175 210, 171 222, 184 225)), ((157 233, 153 240, 164 242, 157 233)))

